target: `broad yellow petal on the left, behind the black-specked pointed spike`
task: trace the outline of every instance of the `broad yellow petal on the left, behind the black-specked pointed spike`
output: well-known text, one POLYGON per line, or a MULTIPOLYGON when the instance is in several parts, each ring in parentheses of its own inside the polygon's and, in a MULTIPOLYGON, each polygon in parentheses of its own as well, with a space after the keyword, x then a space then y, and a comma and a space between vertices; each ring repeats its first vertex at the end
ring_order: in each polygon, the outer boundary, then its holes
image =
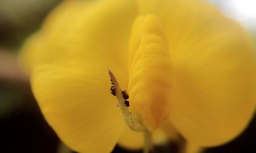
POLYGON ((127 89, 127 42, 135 13, 129 0, 67 1, 48 18, 40 39, 27 44, 36 53, 31 80, 40 109, 76 151, 110 152, 125 126, 107 69, 127 89))

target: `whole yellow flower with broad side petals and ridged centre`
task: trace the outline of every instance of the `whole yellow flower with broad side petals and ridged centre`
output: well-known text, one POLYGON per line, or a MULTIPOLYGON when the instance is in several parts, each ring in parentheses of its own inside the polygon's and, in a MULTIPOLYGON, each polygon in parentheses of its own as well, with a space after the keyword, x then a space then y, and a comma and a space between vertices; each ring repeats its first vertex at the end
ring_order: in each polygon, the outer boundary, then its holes
POLYGON ((238 136, 255 109, 250 40, 201 1, 66 1, 22 56, 42 113, 79 152, 141 145, 110 94, 108 68, 136 122, 153 132, 166 121, 198 146, 238 136))

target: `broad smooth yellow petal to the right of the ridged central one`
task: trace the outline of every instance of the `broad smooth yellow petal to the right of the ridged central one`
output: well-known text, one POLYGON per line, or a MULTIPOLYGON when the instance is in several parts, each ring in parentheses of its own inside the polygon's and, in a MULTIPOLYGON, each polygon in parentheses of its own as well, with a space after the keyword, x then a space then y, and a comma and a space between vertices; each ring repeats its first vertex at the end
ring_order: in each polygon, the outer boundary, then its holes
POLYGON ((245 129, 256 101, 255 59, 245 32, 200 1, 139 1, 166 31, 176 90, 169 118, 198 145, 225 143, 245 129), (147 5, 146 5, 147 4, 147 5))

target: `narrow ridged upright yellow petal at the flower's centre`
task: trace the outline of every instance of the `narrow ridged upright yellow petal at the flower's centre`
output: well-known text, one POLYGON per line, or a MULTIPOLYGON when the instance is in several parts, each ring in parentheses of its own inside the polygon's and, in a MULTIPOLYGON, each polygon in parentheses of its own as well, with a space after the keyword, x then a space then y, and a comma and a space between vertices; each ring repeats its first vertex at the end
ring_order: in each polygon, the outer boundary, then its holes
POLYGON ((156 129, 168 111, 173 77, 170 64, 158 17, 137 17, 130 39, 130 108, 148 130, 156 129))

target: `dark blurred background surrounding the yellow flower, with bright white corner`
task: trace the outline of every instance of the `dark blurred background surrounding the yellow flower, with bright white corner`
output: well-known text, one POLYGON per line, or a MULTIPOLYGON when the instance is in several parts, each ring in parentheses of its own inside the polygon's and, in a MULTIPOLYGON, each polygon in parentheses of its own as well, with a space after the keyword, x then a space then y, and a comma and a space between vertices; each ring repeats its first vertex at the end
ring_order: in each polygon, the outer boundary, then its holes
MULTIPOLYGON (((29 79, 20 72, 16 61, 21 44, 40 28, 49 11, 60 2, 0 0, 0 152, 73 152, 61 143, 45 121, 32 95, 29 79)), ((239 21, 253 38, 256 50, 256 1, 207 2, 239 21)), ((170 142, 156 150, 175 153, 179 144, 170 142)), ((113 152, 129 151, 116 146, 113 152)), ((256 152, 256 117, 237 139, 219 147, 206 148, 204 152, 256 152)))

